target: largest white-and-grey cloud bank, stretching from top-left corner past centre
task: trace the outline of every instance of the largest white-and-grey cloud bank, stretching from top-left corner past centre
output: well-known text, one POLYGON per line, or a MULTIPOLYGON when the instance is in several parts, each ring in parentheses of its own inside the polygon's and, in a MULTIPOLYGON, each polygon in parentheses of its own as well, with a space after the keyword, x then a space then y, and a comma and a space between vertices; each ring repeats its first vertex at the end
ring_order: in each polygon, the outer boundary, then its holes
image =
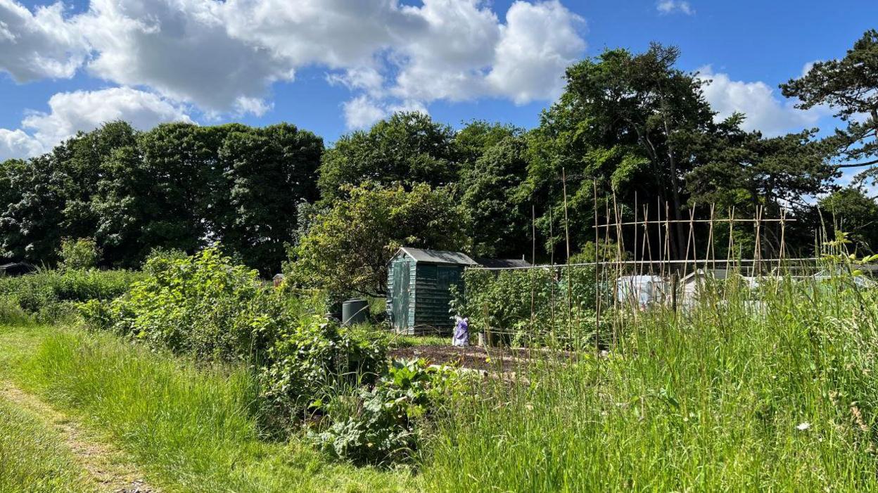
POLYGON ((377 114, 355 111, 366 108, 355 101, 390 108, 488 96, 523 104, 557 96, 564 68, 585 49, 581 19, 558 0, 516 0, 505 22, 486 0, 91 0, 69 18, 60 5, 31 13, 0 0, 0 12, 18 19, 0 24, 0 46, 24 32, 20 25, 49 26, 29 52, 0 54, 0 69, 20 80, 70 76, 84 63, 106 81, 207 115, 261 115, 271 84, 307 66, 327 68, 330 83, 354 93, 346 111, 354 116, 377 114))

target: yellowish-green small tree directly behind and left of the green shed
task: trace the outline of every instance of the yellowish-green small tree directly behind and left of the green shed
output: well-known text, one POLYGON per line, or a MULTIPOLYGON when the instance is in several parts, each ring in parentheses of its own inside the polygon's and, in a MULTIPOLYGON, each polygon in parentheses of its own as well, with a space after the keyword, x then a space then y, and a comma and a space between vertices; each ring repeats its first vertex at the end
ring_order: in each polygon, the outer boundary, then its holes
POLYGON ((466 247, 464 214, 446 189, 415 184, 366 184, 343 190, 291 248, 287 275, 299 284, 338 295, 383 296, 387 262, 402 246, 466 247))

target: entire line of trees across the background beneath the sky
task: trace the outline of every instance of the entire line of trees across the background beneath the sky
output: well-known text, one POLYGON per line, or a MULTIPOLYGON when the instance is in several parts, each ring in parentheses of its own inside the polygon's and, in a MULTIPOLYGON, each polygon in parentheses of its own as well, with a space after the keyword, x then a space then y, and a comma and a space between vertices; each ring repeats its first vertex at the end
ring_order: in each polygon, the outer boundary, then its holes
MULTIPOLYGON (((624 218, 682 219, 703 214, 698 204, 721 218, 785 211, 796 218, 791 249, 813 247, 831 210, 874 248, 874 197, 835 179, 854 167, 878 177, 878 32, 781 85, 802 109, 825 105, 845 122, 823 139, 817 129, 766 138, 744 130, 743 114, 718 118, 702 94, 708 82, 677 68, 679 57, 652 44, 578 61, 529 130, 484 120, 455 129, 399 112, 324 148, 289 124, 140 132, 110 122, 0 163, 0 255, 51 266, 63 239, 89 239, 101 267, 135 268, 155 248, 219 241, 263 275, 290 255, 286 269, 303 285, 378 294, 400 245, 521 258, 536 241, 537 261, 564 261, 569 233, 569 253, 592 258, 596 217, 618 208, 624 218)), ((745 229, 733 232, 744 242, 745 229)), ((686 233, 670 231, 673 256, 685 253, 686 233)), ((630 245, 636 233, 625 234, 599 239, 598 255, 630 245)))

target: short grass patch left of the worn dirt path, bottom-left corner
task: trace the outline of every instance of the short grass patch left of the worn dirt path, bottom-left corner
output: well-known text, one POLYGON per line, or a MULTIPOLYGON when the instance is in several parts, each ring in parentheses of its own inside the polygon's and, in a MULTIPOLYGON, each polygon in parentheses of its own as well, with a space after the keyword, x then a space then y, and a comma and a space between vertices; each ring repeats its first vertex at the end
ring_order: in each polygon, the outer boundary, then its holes
POLYGON ((58 434, 0 397, 0 492, 94 491, 58 434))

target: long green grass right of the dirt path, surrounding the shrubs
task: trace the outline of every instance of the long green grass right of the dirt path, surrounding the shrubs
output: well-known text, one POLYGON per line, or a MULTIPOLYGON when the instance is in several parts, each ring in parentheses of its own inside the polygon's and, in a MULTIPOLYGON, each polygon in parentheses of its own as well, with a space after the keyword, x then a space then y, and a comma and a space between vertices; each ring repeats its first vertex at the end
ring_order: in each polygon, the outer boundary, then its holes
MULTIPOLYGON (((245 369, 107 334, 0 332, 0 375, 106 432, 168 491, 878 490, 878 294, 837 279, 752 298, 708 286, 691 310, 617 311, 606 357, 474 379, 419 474, 266 440, 245 369)), ((68 470, 64 451, 35 450, 39 468, 68 470)))

